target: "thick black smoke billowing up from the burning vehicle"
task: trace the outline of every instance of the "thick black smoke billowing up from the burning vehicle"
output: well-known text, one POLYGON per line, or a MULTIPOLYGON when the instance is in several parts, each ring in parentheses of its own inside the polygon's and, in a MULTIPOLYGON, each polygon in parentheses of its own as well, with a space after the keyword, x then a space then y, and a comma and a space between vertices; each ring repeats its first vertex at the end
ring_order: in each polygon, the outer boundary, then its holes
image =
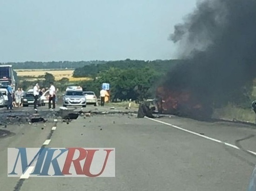
POLYGON ((183 61, 163 87, 203 104, 227 103, 256 77, 256 0, 201 1, 170 40, 183 61))

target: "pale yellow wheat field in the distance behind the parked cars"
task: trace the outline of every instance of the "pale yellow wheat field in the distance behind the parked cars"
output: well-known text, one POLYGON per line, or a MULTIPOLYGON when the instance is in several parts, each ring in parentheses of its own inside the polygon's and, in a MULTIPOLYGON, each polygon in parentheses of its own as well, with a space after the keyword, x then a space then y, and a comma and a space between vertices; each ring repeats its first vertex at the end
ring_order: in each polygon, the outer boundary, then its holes
POLYGON ((27 80, 34 81, 37 80, 39 76, 45 75, 45 73, 50 73, 55 77, 55 80, 61 80, 63 77, 67 77, 70 82, 90 80, 88 77, 73 77, 74 70, 15 70, 18 76, 29 76, 27 80), (34 77, 34 78, 31 78, 34 77))

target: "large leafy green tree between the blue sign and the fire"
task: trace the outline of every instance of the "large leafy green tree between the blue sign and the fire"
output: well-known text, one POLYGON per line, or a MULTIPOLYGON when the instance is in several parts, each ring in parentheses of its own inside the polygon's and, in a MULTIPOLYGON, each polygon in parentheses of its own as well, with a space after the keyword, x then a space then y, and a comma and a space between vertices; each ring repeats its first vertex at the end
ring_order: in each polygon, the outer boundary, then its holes
POLYGON ((101 72, 98 77, 99 83, 110 83, 112 101, 120 100, 143 100, 150 96, 150 89, 158 80, 160 74, 148 67, 121 70, 110 68, 101 72))

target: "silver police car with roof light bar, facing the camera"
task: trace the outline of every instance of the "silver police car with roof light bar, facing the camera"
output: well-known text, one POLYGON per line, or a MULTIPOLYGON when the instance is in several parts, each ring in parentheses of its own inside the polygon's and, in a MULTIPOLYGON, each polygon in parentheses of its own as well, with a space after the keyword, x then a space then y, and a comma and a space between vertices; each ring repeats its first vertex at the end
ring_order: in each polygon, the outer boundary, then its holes
POLYGON ((86 107, 86 96, 82 90, 67 90, 63 95, 63 107, 67 106, 82 106, 86 107))

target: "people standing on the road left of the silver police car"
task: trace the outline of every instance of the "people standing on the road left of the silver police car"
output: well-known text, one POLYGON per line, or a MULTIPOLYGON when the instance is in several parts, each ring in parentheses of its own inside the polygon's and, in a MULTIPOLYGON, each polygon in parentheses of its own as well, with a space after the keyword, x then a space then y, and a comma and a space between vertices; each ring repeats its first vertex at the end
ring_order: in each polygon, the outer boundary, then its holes
MULTIPOLYGON (((50 84, 49 88, 49 103, 48 108, 49 109, 55 109, 56 107, 56 92, 58 89, 55 89, 54 84, 50 84), (53 102, 53 107, 51 106, 51 103, 53 102)), ((39 84, 36 83, 33 88, 33 95, 34 95, 34 110, 37 111, 37 102, 39 96, 42 96, 42 94, 45 92, 45 89, 40 89, 39 84)), ((22 88, 18 88, 15 92, 13 92, 13 84, 10 83, 7 87, 7 109, 13 109, 13 107, 21 107, 22 96, 25 95, 25 92, 22 88)))

